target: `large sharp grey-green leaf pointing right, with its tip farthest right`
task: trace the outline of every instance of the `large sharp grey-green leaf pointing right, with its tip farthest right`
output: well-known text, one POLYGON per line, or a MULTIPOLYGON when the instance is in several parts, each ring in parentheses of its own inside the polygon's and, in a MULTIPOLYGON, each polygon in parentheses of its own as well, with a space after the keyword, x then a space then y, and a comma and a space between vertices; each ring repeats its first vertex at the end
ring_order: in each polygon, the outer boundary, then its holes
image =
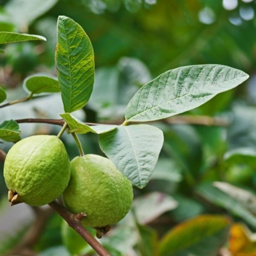
POLYGON ((185 66, 166 71, 133 96, 126 108, 126 120, 152 121, 186 112, 248 77, 241 70, 222 65, 185 66))

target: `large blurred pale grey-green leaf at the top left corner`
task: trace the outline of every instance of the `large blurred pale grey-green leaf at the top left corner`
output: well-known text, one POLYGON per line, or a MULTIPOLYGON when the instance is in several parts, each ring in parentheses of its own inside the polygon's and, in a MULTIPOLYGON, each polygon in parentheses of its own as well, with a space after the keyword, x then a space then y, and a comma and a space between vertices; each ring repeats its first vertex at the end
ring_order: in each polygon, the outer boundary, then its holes
POLYGON ((39 16, 52 8, 58 0, 10 0, 5 10, 11 21, 20 31, 27 31, 28 26, 39 16))

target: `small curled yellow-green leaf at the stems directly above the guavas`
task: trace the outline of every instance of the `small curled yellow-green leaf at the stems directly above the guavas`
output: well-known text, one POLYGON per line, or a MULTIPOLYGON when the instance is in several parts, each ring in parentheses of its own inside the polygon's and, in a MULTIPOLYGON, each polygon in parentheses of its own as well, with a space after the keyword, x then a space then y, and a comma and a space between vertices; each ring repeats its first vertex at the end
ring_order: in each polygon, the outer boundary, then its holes
POLYGON ((117 127, 116 125, 89 126, 84 124, 82 121, 78 120, 77 118, 73 117, 70 113, 60 114, 60 116, 68 124, 69 133, 75 132, 78 134, 85 134, 88 132, 93 132, 96 134, 101 134, 101 133, 106 133, 111 130, 114 130, 117 127))

